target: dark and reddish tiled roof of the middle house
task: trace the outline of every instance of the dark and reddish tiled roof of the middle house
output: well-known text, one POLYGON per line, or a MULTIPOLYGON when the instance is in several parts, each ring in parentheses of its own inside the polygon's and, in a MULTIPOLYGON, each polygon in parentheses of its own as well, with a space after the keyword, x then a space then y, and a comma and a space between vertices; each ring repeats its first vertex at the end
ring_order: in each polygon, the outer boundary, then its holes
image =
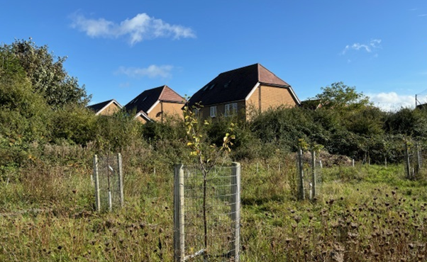
POLYGON ((184 103, 184 98, 170 89, 169 86, 159 86, 155 89, 143 91, 143 93, 140 93, 131 102, 127 103, 125 108, 128 111, 136 110, 136 112, 149 113, 157 101, 184 103))

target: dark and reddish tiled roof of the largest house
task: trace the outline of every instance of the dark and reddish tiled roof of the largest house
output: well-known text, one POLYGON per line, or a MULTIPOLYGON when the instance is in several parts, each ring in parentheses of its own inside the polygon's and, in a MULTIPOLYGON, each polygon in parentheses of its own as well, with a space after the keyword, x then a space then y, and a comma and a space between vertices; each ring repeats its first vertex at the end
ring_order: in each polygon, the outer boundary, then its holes
POLYGON ((218 74, 214 80, 194 93, 189 104, 201 102, 203 106, 209 106, 216 103, 243 101, 257 84, 288 88, 296 103, 299 103, 299 99, 287 82, 279 79, 261 64, 252 64, 218 74))

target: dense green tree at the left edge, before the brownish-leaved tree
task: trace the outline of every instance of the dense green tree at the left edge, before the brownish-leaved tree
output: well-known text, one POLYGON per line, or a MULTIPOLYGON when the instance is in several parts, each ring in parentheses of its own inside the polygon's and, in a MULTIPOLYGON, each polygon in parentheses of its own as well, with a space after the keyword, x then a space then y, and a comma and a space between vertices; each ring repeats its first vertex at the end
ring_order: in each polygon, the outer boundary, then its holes
POLYGON ((0 49, 0 166, 21 165, 28 157, 28 144, 45 140, 49 114, 18 59, 0 49))

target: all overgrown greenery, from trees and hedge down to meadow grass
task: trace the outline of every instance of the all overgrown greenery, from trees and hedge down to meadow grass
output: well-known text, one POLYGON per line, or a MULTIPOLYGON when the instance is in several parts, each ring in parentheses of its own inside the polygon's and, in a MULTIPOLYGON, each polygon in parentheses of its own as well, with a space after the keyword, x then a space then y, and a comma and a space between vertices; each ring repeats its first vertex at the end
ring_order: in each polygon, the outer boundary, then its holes
MULTIPOLYGON (((95 116, 63 62, 31 41, 0 48, 0 261, 172 261, 172 170, 192 161, 188 126, 95 116), (110 152, 123 155, 126 207, 98 214, 91 159, 110 152)), ((340 82, 322 90, 317 110, 197 127, 203 147, 235 137, 243 261, 425 260, 426 179, 406 180, 401 162, 404 142, 425 146, 427 110, 383 112, 340 82), (323 169, 320 197, 296 201, 299 139, 365 165, 323 169)))

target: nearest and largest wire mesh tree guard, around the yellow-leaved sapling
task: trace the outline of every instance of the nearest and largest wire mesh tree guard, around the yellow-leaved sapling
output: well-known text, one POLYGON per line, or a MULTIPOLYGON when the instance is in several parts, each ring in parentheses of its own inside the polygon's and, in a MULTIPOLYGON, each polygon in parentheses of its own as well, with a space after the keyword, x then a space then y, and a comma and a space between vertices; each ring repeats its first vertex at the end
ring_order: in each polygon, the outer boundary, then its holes
POLYGON ((174 169, 175 261, 239 261, 240 164, 174 169), (204 190, 206 185, 206 190, 204 190))

